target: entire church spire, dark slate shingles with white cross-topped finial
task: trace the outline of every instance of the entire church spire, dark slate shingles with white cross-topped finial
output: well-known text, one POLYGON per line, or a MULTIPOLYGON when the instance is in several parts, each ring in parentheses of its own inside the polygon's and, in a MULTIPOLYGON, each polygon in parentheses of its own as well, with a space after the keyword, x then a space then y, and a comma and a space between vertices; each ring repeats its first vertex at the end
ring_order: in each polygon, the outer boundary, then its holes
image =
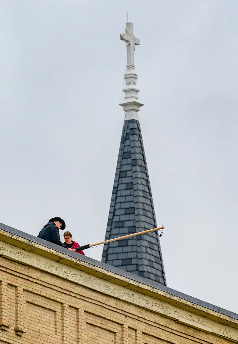
MULTIPOLYGON (((121 40, 126 42, 125 112, 105 240, 157 227, 138 111, 139 89, 134 49, 139 39, 133 24, 126 23, 121 40)), ((157 232, 104 244, 102 261, 166 285, 157 232)))

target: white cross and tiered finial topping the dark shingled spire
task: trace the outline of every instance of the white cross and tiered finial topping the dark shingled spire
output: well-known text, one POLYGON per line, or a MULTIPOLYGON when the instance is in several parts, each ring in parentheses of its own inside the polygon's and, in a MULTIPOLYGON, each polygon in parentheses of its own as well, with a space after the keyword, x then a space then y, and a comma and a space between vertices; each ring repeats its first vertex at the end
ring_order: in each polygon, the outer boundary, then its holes
POLYGON ((134 50, 135 45, 140 44, 140 40, 135 37, 133 33, 133 23, 126 23, 125 33, 120 35, 122 41, 126 42, 127 49, 127 65, 125 78, 125 87, 123 88, 124 103, 119 104, 123 107, 125 112, 125 120, 136 119, 139 120, 138 111, 144 104, 138 102, 139 88, 136 86, 137 74, 135 73, 134 65, 134 50))

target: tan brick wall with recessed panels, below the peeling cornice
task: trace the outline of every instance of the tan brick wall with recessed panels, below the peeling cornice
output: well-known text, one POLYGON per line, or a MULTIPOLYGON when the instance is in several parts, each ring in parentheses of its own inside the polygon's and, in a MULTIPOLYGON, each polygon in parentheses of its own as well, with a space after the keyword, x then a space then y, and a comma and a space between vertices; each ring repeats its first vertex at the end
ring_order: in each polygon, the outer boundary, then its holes
POLYGON ((0 280, 0 344, 236 342, 4 257, 0 280))

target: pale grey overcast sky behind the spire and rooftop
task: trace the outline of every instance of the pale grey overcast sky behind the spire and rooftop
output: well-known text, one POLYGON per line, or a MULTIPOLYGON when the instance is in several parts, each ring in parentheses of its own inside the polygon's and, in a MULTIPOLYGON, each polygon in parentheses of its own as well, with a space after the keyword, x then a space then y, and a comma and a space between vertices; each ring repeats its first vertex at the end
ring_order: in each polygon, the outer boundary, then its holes
POLYGON ((126 10, 167 284, 238 313, 237 0, 0 0, 0 222, 104 240, 126 10))

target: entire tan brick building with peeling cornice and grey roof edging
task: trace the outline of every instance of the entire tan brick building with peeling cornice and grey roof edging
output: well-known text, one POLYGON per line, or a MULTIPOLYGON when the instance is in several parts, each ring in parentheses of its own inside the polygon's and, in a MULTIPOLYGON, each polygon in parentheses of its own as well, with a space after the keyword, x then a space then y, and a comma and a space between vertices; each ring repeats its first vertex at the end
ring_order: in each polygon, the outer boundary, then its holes
POLYGON ((0 344, 238 343, 238 314, 0 224, 0 344))

